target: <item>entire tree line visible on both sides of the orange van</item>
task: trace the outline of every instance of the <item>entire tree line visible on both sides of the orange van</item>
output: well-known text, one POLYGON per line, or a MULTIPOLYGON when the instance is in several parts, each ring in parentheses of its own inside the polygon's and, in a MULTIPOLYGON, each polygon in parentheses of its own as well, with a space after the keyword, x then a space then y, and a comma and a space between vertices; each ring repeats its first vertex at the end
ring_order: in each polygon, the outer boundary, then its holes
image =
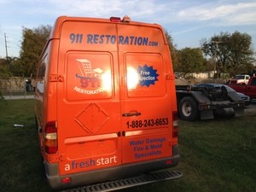
MULTIPOLYGON (((22 29, 20 57, 0 60, 0 78, 11 76, 35 77, 38 59, 46 44, 51 26, 22 29)), ((221 73, 233 77, 238 73, 251 73, 255 66, 252 38, 247 33, 220 32, 212 38, 202 39, 201 47, 177 49, 172 36, 166 32, 172 55, 174 72, 184 78, 191 73, 211 72, 219 78, 221 73)))

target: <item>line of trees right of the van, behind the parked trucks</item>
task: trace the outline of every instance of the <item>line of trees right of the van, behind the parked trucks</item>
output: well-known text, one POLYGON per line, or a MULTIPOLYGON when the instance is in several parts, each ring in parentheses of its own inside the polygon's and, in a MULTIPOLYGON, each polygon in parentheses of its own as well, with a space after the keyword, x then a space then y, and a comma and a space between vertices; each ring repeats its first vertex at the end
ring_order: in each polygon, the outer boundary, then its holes
POLYGON ((174 72, 184 78, 191 73, 213 72, 215 78, 227 74, 230 78, 236 74, 252 74, 256 67, 252 37, 241 32, 220 32, 212 38, 202 39, 199 48, 177 49, 172 37, 166 32, 172 54, 174 72))

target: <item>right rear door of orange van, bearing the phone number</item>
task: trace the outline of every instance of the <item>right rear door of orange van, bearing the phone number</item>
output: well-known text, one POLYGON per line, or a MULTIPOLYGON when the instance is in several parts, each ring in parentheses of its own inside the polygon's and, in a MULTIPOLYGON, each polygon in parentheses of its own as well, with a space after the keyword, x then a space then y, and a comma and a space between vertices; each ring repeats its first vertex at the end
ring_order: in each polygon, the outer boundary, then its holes
POLYGON ((123 163, 171 157, 176 107, 164 34, 137 24, 119 25, 118 33, 123 163))

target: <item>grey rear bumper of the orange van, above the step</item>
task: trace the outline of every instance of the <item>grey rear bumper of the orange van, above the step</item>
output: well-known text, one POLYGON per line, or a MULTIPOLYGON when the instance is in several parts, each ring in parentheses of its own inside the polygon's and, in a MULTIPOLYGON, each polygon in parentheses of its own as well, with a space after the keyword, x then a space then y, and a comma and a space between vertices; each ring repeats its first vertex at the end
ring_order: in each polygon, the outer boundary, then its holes
POLYGON ((52 189, 68 189, 76 186, 84 186, 92 183, 102 183, 114 179, 132 177, 144 172, 154 172, 161 169, 177 166, 179 155, 172 158, 143 161, 122 166, 113 166, 106 169, 94 170, 89 172, 79 172, 74 174, 59 174, 58 164, 44 162, 46 177, 52 189), (71 183, 61 183, 61 179, 71 177, 71 183))

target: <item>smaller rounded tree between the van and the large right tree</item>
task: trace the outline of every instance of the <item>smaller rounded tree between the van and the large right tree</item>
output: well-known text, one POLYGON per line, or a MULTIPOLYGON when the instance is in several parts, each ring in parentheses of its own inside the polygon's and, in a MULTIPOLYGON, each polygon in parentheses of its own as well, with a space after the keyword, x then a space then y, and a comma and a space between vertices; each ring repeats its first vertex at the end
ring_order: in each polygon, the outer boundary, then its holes
POLYGON ((177 71, 187 77, 188 73, 200 73, 205 70, 207 60, 203 57, 200 48, 184 48, 178 51, 177 71))

